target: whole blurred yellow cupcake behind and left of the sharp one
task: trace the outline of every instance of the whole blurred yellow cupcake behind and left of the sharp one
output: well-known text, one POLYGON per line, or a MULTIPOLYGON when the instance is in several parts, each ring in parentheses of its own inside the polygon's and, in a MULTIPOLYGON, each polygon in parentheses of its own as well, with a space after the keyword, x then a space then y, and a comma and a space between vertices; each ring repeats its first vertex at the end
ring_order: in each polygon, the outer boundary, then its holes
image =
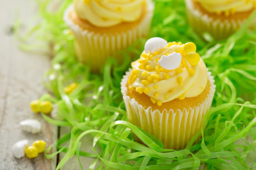
POLYGON ((107 57, 122 57, 138 38, 149 34, 154 5, 151 1, 75 0, 64 13, 64 21, 75 36, 78 60, 98 72, 107 57))

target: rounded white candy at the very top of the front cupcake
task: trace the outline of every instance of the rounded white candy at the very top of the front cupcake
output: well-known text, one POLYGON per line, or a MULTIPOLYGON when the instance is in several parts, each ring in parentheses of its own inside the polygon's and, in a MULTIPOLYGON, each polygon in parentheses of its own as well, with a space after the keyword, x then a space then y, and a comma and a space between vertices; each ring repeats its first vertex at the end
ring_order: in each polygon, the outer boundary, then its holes
POLYGON ((159 50, 161 48, 164 48, 168 42, 164 40, 163 38, 150 38, 146 41, 146 44, 144 46, 145 52, 154 52, 156 50, 159 50))

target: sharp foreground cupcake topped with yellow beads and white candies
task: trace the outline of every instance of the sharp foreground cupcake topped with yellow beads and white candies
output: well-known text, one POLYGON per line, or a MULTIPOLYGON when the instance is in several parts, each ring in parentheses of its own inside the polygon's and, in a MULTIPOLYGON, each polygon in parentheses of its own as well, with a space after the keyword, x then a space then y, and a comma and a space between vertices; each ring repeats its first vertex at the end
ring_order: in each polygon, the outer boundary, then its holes
POLYGON ((129 122, 182 149, 201 130, 215 85, 193 42, 151 38, 124 75, 121 91, 129 122))

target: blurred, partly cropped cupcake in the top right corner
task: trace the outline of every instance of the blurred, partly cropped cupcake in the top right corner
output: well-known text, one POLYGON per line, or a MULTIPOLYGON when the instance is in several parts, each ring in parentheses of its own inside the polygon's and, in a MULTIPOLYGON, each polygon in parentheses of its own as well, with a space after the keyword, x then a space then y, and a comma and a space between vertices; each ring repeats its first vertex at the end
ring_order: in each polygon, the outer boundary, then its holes
POLYGON ((186 0, 188 21, 198 34, 205 31, 220 40, 234 33, 252 11, 256 0, 186 0))

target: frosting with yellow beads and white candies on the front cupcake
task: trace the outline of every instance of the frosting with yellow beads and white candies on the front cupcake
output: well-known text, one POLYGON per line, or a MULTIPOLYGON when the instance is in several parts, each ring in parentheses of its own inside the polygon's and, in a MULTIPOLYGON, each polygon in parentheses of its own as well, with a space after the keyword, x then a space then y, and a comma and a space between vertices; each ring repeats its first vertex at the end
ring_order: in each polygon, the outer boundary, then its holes
POLYGON ((146 94, 158 106, 175 98, 196 97, 208 81, 206 64, 193 42, 151 38, 139 60, 132 62, 132 69, 128 89, 146 94))

